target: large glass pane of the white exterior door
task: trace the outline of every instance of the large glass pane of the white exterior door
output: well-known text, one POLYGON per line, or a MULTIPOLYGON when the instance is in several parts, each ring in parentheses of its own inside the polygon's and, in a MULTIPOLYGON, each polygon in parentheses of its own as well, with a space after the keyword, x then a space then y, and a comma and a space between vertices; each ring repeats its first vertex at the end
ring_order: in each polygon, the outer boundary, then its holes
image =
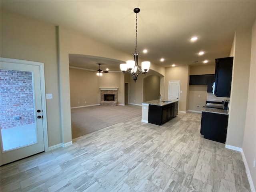
POLYGON ((32 72, 0 70, 2 150, 37 143, 32 72))

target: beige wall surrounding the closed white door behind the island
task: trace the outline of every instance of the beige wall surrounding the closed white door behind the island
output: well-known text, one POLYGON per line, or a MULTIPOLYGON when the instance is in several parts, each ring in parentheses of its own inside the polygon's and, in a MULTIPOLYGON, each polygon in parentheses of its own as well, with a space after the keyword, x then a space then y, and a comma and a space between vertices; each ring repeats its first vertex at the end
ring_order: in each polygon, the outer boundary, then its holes
POLYGON ((164 98, 168 98, 169 81, 180 80, 180 102, 179 110, 186 112, 188 110, 188 82, 189 66, 177 66, 166 68, 164 83, 164 98))

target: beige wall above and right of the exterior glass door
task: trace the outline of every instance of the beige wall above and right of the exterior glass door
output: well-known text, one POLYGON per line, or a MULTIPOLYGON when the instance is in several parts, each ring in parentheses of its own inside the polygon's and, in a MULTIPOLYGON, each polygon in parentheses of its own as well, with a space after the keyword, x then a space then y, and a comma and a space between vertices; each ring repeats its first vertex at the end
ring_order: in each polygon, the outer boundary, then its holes
POLYGON ((1 57, 44 63, 48 145, 62 143, 56 30, 53 24, 1 9, 1 57))

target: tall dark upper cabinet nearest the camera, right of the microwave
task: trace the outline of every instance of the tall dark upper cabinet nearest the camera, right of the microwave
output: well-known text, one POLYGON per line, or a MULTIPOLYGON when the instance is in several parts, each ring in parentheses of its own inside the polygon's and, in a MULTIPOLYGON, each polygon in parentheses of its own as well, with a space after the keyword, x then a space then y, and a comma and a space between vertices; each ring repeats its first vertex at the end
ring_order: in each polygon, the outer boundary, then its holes
POLYGON ((233 57, 215 59, 215 92, 217 97, 230 97, 233 57))

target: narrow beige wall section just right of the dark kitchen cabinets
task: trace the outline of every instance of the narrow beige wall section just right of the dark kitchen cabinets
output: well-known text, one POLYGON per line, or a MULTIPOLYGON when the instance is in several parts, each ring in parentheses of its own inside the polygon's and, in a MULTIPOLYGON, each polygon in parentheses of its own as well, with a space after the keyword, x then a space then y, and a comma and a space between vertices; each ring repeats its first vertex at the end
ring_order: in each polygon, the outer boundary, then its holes
POLYGON ((251 29, 235 34, 234 62, 226 144, 242 148, 250 74, 251 29))

